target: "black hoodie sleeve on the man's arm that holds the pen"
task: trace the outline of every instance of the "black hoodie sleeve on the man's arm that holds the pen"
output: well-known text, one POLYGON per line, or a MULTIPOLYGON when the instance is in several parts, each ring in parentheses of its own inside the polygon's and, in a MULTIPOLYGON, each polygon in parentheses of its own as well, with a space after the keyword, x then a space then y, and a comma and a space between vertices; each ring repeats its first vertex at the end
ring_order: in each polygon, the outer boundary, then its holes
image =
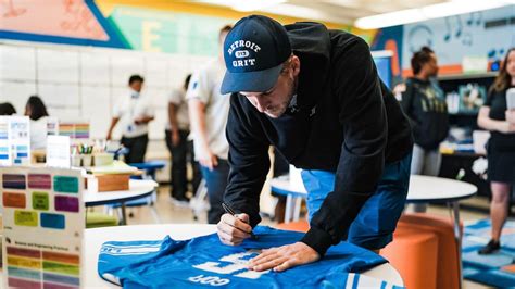
POLYGON ((261 222, 260 194, 271 166, 269 143, 256 116, 243 112, 241 102, 247 100, 238 98, 242 97, 230 96, 226 128, 230 171, 224 201, 236 213, 247 213, 254 227, 261 222))

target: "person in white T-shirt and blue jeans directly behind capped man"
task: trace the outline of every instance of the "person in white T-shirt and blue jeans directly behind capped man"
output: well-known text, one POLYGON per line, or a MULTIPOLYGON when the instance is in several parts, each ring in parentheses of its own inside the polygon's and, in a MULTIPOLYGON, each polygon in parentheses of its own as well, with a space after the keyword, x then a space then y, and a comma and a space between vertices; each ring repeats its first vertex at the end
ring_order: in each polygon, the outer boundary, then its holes
POLYGON ((194 156, 201 165, 202 177, 208 186, 210 210, 208 223, 216 224, 224 214, 222 201, 227 187, 229 144, 225 127, 229 115, 229 96, 221 95, 225 75, 222 45, 231 29, 227 25, 218 35, 219 55, 197 71, 186 93, 188 99, 194 156))

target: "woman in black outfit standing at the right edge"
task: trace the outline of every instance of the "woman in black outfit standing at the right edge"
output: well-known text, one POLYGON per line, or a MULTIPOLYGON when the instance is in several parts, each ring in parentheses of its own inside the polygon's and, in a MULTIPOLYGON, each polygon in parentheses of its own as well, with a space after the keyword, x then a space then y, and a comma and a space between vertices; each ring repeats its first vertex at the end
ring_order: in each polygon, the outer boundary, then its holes
POLYGON ((487 102, 479 110, 477 124, 490 130, 488 141, 488 179, 492 191, 491 239, 479 254, 491 254, 501 248, 500 237, 507 217, 510 192, 515 184, 515 110, 507 110, 506 90, 515 87, 515 48, 506 52, 499 75, 490 87, 487 102))

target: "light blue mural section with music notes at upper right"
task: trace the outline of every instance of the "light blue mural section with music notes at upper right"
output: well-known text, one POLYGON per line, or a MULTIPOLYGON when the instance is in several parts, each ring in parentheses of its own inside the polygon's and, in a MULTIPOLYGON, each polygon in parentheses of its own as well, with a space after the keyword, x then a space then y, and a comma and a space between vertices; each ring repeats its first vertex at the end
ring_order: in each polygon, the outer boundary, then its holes
POLYGON ((373 50, 392 50, 394 78, 411 74, 410 59, 423 46, 438 56, 440 74, 462 73, 464 56, 500 61, 515 47, 515 5, 430 20, 377 32, 373 50), (395 68, 399 67, 399 68, 395 68))

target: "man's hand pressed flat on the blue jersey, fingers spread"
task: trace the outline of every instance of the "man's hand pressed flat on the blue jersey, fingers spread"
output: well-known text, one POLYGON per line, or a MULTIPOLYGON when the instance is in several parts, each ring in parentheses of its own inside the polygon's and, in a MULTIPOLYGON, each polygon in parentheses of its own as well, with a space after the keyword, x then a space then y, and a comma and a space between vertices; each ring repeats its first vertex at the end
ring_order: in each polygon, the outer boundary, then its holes
POLYGON ((250 260, 249 268, 253 271, 274 269, 282 272, 294 266, 318 261, 321 256, 311 247, 303 242, 296 242, 277 248, 263 250, 263 252, 250 260))

